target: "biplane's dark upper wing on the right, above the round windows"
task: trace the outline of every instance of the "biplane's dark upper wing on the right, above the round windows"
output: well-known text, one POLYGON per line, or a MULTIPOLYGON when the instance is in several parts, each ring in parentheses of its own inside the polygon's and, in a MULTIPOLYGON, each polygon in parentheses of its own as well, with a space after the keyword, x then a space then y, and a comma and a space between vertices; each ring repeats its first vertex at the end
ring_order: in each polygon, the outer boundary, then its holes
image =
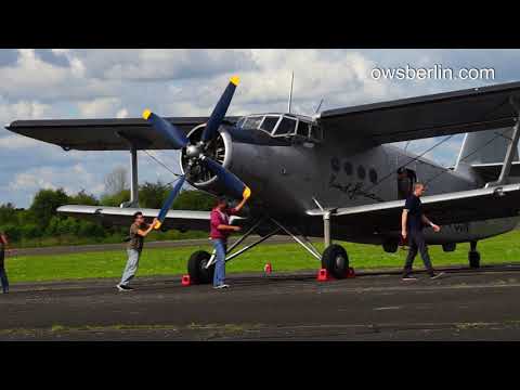
POLYGON ((376 144, 514 126, 520 82, 324 110, 324 132, 372 139, 376 144))

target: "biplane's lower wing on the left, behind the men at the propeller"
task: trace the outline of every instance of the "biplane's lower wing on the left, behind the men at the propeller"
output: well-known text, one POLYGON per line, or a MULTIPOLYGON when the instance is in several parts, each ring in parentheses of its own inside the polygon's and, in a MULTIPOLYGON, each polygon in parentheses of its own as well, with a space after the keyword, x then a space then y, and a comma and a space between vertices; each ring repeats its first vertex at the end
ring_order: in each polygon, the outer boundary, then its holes
MULTIPOLYGON (((64 216, 77 217, 100 221, 102 223, 115 225, 130 225, 133 220, 133 213, 141 211, 145 218, 153 219, 157 217, 159 210, 147 208, 121 208, 104 206, 76 206, 67 205, 57 208, 57 212, 64 216)), ((243 220, 242 217, 233 216, 230 223, 243 220)), ((170 210, 166 216, 162 227, 178 229, 180 231, 197 230, 208 231, 210 221, 209 211, 191 210, 170 210)))

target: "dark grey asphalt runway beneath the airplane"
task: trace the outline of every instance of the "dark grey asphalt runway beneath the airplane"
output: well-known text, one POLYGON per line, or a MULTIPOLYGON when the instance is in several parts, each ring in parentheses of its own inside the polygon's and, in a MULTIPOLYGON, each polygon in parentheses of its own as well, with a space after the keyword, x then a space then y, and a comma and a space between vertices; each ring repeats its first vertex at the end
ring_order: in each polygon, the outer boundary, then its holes
POLYGON ((320 283, 314 273, 230 275, 226 290, 179 277, 16 284, 0 340, 520 340, 520 265, 399 272, 320 283))

